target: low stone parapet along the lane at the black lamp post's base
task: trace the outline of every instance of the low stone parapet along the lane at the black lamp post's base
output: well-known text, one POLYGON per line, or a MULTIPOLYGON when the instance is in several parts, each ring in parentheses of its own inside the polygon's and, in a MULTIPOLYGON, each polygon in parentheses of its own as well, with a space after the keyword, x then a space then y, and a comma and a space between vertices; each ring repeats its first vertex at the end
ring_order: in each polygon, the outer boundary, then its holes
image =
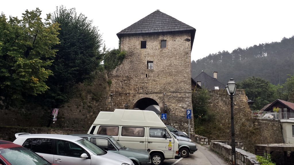
MULTIPOLYGON (((218 154, 222 155, 225 159, 232 161, 232 148, 231 146, 220 143, 211 142, 211 149, 218 154)), ((256 160, 256 155, 246 152, 242 149, 236 149, 236 164, 238 165, 255 165, 260 164, 256 160)))

